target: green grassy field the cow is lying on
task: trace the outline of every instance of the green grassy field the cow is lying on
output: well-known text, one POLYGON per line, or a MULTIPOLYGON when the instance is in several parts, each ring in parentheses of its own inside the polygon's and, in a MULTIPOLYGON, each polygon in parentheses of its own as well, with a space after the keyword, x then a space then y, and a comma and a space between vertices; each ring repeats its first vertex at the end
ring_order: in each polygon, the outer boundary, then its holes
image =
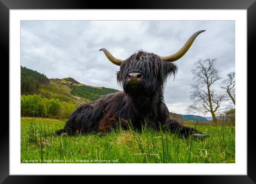
POLYGON ((203 140, 148 128, 55 136, 64 124, 21 117, 21 163, 235 163, 234 126, 197 126, 203 140))

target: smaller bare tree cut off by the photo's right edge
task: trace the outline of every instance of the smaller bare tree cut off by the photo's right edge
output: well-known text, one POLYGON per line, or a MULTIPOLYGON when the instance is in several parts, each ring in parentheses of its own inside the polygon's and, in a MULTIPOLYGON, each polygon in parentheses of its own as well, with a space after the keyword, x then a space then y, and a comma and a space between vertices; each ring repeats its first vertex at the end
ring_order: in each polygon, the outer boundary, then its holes
POLYGON ((222 89, 224 89, 228 96, 231 98, 232 102, 234 103, 234 105, 236 105, 236 101, 235 101, 235 90, 236 90, 236 81, 235 81, 235 72, 231 72, 227 74, 227 78, 225 78, 222 81, 222 89))

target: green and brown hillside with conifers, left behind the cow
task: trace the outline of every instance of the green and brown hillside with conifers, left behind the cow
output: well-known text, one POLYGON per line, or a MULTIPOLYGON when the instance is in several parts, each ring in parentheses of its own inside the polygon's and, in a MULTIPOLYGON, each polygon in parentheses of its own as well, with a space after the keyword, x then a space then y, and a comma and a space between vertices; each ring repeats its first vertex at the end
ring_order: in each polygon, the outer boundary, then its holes
POLYGON ((82 84, 74 78, 47 78, 44 74, 21 66, 21 94, 40 94, 43 98, 72 101, 77 105, 96 100, 118 90, 82 84))

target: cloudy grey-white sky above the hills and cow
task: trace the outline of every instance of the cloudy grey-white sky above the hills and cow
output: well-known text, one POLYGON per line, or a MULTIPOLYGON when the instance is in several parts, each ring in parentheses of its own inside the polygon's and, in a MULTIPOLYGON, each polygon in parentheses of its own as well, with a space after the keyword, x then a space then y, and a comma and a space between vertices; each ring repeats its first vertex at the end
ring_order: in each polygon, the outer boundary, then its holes
MULTIPOLYGON (((164 92, 170 112, 188 114, 190 85, 195 83, 191 69, 199 58, 217 58, 222 77, 235 71, 235 21, 21 21, 21 66, 48 78, 72 77, 86 85, 122 90, 115 76, 119 66, 100 48, 121 60, 141 49, 167 56, 198 30, 206 31, 175 62, 178 73, 164 92)), ((213 86, 216 91, 220 83, 213 86)))

